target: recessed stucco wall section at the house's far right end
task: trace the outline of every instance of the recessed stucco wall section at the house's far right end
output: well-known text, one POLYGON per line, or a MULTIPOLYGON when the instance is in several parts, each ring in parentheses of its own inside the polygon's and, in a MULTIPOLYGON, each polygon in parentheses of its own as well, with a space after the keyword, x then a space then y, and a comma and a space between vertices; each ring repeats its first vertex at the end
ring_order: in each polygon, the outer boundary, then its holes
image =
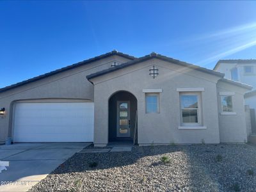
POLYGON ((247 141, 244 93, 247 91, 229 83, 219 81, 218 90, 218 114, 220 121, 220 141, 227 143, 247 141), (221 115, 220 92, 235 92, 233 95, 233 109, 236 115, 221 115))

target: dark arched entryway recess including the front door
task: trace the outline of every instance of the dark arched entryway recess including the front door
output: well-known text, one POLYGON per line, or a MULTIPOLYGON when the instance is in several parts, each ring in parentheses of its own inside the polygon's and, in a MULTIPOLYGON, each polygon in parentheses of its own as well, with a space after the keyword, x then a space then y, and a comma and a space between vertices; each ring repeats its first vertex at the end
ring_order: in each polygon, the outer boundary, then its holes
POLYGON ((137 143, 137 99, 126 91, 109 97, 109 142, 137 143))

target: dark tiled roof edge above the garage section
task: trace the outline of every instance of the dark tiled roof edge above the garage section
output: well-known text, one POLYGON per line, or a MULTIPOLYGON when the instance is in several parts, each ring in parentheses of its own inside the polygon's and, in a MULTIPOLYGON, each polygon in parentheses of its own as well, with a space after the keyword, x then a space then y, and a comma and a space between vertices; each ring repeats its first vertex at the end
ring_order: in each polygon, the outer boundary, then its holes
POLYGON ((45 77, 49 77, 49 76, 52 76, 52 75, 55 75, 55 74, 58 74, 60 72, 65 72, 67 70, 70 70, 72 68, 76 68, 76 67, 81 67, 83 65, 86 65, 86 64, 89 64, 89 63, 92 63, 94 61, 98 61, 98 60, 101 60, 101 59, 104 59, 104 58, 108 58, 109 56, 121 56, 123 58, 127 58, 129 60, 134 60, 136 59, 134 56, 130 56, 128 54, 124 54, 123 52, 118 52, 118 51, 111 51, 111 52, 107 52, 106 54, 101 54, 100 56, 96 56, 94 58, 90 58, 88 60, 84 60, 84 61, 81 61, 79 63, 74 63, 73 65, 68 65, 67 67, 63 67, 63 68, 60 68, 60 69, 57 69, 57 70, 54 70, 52 72, 49 72, 49 73, 46 73, 46 74, 43 74, 41 76, 37 76, 37 77, 33 77, 31 79, 27 79, 26 81, 22 81, 20 83, 16 83, 16 84, 12 84, 10 86, 6 86, 4 88, 1 88, 0 89, 0 93, 1 92, 6 92, 8 90, 11 90, 13 88, 17 88, 19 86, 22 86, 24 84, 28 84, 28 83, 31 83, 31 82, 34 82, 34 81, 38 81, 40 79, 44 79, 45 77))

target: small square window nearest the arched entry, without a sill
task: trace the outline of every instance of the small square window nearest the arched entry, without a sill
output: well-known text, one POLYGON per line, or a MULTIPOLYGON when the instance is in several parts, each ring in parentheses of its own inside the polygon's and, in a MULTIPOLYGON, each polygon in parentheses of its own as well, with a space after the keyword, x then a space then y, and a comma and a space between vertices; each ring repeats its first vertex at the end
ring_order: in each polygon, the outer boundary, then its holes
POLYGON ((159 113, 159 94, 146 93, 146 113, 159 113))

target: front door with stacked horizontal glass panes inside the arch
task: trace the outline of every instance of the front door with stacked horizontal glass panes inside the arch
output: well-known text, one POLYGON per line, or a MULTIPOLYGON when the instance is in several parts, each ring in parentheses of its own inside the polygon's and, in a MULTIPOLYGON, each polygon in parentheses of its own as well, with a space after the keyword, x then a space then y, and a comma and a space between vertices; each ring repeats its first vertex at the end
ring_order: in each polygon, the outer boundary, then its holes
POLYGON ((131 138, 130 127, 130 102, 117 101, 117 122, 116 122, 116 137, 131 138))

